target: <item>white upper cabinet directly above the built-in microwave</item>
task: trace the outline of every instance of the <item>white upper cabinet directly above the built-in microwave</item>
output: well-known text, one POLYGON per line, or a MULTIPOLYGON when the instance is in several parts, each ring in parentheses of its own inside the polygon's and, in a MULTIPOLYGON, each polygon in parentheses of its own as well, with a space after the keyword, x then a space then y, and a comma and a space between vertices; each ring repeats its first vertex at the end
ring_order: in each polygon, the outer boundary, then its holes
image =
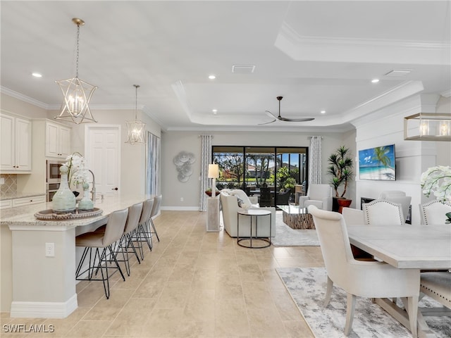
POLYGON ((66 158, 70 155, 70 127, 46 121, 45 156, 66 158))

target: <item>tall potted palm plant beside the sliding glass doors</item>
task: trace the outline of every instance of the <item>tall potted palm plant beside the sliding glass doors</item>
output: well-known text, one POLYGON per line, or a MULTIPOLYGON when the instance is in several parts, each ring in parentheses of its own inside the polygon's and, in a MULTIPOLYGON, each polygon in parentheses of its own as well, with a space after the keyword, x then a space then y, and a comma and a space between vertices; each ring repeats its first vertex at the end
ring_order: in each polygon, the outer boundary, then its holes
MULTIPOLYGON (((340 146, 328 158, 328 175, 332 176, 330 184, 335 191, 336 206, 350 206, 352 200, 345 197, 347 182, 352 178, 352 168, 354 161, 349 155, 350 149, 347 146, 340 146), (343 187, 342 192, 339 188, 343 187), (341 200, 341 201, 339 201, 341 200)), ((338 210, 335 210, 338 211, 338 210)))

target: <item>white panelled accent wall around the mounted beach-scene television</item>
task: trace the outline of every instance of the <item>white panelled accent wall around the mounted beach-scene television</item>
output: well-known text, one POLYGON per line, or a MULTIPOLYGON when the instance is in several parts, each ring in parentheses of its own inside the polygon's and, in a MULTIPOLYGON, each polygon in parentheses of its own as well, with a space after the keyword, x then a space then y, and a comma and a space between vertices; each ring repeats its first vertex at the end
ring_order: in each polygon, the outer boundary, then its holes
POLYGON ((402 190, 407 196, 412 196, 412 224, 419 224, 419 204, 428 200, 421 193, 421 173, 433 165, 451 165, 451 142, 404 141, 404 117, 431 112, 431 109, 447 109, 449 113, 449 106, 450 98, 442 97, 437 102, 431 96, 417 95, 355 121, 357 151, 395 144, 396 162, 395 181, 359 180, 356 166, 357 208, 360 208, 362 196, 376 199, 383 190, 402 190))

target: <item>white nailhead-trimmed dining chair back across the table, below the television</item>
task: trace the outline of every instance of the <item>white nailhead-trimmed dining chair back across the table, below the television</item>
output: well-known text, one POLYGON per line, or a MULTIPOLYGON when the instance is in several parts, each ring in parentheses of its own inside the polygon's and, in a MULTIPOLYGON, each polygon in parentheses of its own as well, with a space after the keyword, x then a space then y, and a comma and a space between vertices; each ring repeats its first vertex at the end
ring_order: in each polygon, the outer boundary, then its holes
POLYGON ((401 204, 375 199, 362 204, 366 225, 402 225, 405 223, 401 204))

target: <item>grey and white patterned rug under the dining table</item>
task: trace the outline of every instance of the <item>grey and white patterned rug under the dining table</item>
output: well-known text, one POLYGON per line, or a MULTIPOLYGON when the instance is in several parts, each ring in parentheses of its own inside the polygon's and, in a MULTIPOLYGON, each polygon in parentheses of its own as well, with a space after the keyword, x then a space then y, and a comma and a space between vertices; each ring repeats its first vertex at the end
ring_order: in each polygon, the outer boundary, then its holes
MULTIPOLYGON (((297 308, 316 338, 345 337, 346 293, 333 288, 330 303, 323 308, 326 296, 325 268, 277 268, 277 273, 290 292, 297 308)), ((424 297, 421 307, 440 306, 424 297)), ((451 318, 424 317, 438 338, 451 337, 451 318)), ((357 297, 350 338, 407 338, 412 334, 370 299, 357 297)))

